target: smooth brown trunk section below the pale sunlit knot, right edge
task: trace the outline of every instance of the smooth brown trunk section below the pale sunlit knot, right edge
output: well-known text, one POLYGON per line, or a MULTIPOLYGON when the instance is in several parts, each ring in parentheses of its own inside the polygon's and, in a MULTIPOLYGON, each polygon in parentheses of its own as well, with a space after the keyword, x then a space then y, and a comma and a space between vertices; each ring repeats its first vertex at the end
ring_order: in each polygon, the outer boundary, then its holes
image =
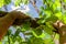
POLYGON ((59 28, 59 44, 66 44, 66 25, 59 28))

